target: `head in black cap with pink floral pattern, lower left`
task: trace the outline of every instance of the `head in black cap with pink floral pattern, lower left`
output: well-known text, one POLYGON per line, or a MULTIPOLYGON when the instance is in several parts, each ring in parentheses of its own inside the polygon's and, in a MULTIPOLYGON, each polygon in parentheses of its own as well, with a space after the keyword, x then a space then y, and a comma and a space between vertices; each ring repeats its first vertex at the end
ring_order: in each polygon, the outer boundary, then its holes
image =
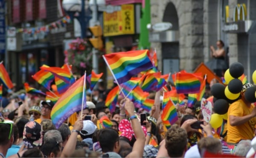
POLYGON ((25 148, 40 147, 42 145, 41 125, 35 121, 26 123, 23 131, 25 148))

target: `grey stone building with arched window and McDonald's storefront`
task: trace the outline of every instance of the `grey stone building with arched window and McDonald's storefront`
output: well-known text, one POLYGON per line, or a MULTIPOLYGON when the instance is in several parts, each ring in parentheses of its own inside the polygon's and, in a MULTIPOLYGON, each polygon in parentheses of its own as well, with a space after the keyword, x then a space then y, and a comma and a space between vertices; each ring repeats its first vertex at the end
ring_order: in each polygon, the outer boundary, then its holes
MULTIPOLYGON (((192 72, 210 60, 209 46, 223 40, 229 63, 240 62, 244 73, 255 70, 256 1, 253 0, 151 0, 151 25, 172 23, 177 35, 165 36, 151 31, 151 47, 157 49, 159 69, 192 72), (161 3, 159 3, 161 1, 161 3), (240 7, 241 6, 241 7, 240 7), (244 15, 244 17, 243 17, 244 15), (234 18, 233 18, 234 17, 234 18), (158 34, 158 35, 155 35, 158 34), (160 40, 157 41, 157 38, 160 40)), ((169 34, 164 31, 163 34, 169 34)), ((250 80, 250 78, 248 78, 250 80)))

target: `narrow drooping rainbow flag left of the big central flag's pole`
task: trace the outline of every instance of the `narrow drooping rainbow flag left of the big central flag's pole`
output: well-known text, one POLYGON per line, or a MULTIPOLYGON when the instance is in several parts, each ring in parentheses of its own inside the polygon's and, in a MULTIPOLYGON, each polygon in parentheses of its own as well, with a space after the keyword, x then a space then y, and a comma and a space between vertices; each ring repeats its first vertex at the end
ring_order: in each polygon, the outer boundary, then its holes
POLYGON ((116 86, 107 95, 107 98, 105 100, 105 105, 110 109, 111 112, 114 112, 116 109, 119 92, 120 92, 119 87, 116 86))

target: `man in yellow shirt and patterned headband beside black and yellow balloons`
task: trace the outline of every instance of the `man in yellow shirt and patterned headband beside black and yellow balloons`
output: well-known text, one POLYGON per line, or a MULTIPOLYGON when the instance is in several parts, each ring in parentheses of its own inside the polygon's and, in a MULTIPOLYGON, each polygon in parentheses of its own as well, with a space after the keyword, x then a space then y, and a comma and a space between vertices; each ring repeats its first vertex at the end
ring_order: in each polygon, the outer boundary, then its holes
POLYGON ((241 140, 253 139, 256 124, 256 107, 244 98, 247 88, 253 86, 246 83, 241 92, 241 98, 232 103, 227 115, 227 143, 236 144, 241 140))

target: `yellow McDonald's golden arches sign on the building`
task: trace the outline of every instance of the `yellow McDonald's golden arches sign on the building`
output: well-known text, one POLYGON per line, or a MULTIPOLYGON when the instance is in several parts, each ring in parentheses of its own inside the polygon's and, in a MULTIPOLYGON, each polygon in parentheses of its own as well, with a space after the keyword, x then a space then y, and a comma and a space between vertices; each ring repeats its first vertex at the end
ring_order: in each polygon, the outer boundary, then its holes
MULTIPOLYGON (((237 4, 233 11, 233 22, 244 21, 247 17, 247 9, 244 3, 237 4)), ((226 6, 226 23, 229 21, 229 6, 226 6)))

